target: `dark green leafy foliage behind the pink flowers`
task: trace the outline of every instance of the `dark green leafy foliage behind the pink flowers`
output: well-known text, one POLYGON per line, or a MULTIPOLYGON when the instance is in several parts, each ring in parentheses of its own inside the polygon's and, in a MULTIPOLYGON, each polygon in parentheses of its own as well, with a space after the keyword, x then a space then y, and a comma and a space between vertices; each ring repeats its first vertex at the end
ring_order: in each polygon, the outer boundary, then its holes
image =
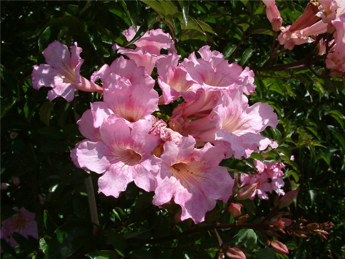
MULTIPOLYGON (((306 2, 279 1, 277 5, 288 25, 303 12, 306 2)), ((301 188, 290 212, 294 219, 303 216, 310 222, 335 223, 328 240, 284 236, 281 240, 290 254, 279 257, 329 258, 331 251, 333 258, 342 258, 344 83, 315 75, 324 71, 324 60, 314 63, 312 71, 268 69, 309 58, 315 49, 304 44, 270 60, 273 32, 261 1, 1 1, 1 183, 10 185, 1 190, 1 220, 14 215, 12 207, 24 206, 35 212, 39 234, 38 241, 16 236, 20 244, 16 249, 1 240, 3 258, 215 257, 219 247, 213 232, 175 237, 217 221, 217 210, 224 208, 221 202, 198 226, 190 220, 175 222, 174 215, 151 204, 153 193, 133 184, 118 199, 96 194, 100 229, 93 234, 84 184, 88 174, 73 165, 69 151, 83 139, 75 121, 100 96, 79 92, 70 103, 62 98, 50 103, 48 88, 32 88, 33 66, 45 63, 41 52, 50 42, 60 40, 70 46, 77 41, 85 59, 81 74, 89 77, 118 57, 111 45, 127 44, 121 32, 137 24, 141 25, 138 34, 150 25, 172 34, 182 57, 208 44, 230 62, 256 70, 257 88, 249 100, 268 102, 279 119, 277 129, 265 134, 280 147, 267 155, 287 164, 286 191, 297 185, 301 188), (291 154, 294 162, 289 160, 291 154), (18 187, 13 176, 20 179, 18 187)), ((169 115, 171 108, 162 112, 169 115)), ((241 161, 229 159, 223 164, 250 173, 241 161)), ((99 176, 91 176, 97 190, 99 176)), ((273 198, 243 203, 250 221, 265 216, 273 198)), ((231 221, 230 215, 222 219, 231 221)), ((227 229, 220 235, 231 246, 236 243, 250 249, 247 258, 277 258, 252 232, 242 237, 243 231, 227 229)))

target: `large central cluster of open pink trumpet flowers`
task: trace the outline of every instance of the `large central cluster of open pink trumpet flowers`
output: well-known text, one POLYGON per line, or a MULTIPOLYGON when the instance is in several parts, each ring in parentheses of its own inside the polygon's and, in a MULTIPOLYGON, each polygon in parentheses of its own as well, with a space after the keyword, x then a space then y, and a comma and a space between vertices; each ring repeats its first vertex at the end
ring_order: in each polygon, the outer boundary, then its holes
MULTIPOLYGON (((136 32, 131 27, 123 34, 131 40, 136 32)), ((255 90, 254 73, 229 64, 209 46, 199 49, 200 58, 192 53, 179 62, 171 36, 161 29, 148 31, 134 44, 135 49, 115 44, 129 59, 104 64, 89 81, 79 74, 76 43, 69 55, 67 46, 55 41, 43 52, 49 65, 34 68, 34 87, 53 87, 50 100, 63 96, 70 101, 74 88, 103 91, 103 101, 91 103, 78 120, 86 139, 71 150, 77 167, 102 174, 99 192, 118 197, 134 181, 154 191, 154 205, 173 200, 182 208, 181 220, 202 222, 217 199, 227 202, 232 194, 234 180, 219 163, 276 148, 260 133, 276 127, 277 116, 268 104, 249 106, 246 95, 255 90), (162 96, 154 89, 154 67, 162 96), (173 101, 179 104, 168 123, 153 115, 158 104, 173 101)))

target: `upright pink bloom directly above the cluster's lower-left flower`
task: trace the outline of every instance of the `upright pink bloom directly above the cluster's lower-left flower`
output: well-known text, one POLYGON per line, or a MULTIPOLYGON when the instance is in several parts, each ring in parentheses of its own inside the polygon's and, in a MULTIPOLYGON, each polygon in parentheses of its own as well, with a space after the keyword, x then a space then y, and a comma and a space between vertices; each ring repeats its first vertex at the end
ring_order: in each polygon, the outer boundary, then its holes
MULTIPOLYGON (((105 64, 91 76, 92 81, 99 78, 104 85, 104 103, 99 104, 98 111, 117 114, 129 122, 154 121, 151 113, 158 110, 158 93, 153 89, 155 81, 143 67, 120 57, 110 67, 105 64)), ((103 121, 100 118, 98 127, 103 121)))

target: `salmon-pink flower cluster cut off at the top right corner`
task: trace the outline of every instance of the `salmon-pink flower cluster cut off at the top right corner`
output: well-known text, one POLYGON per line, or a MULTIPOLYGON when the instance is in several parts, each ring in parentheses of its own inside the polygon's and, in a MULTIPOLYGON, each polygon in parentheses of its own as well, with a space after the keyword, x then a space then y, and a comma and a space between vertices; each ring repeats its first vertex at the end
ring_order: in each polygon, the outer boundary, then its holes
POLYGON ((273 30, 281 31, 278 39, 284 48, 291 50, 295 45, 314 42, 317 39, 320 49, 318 55, 327 53, 326 68, 331 70, 330 75, 336 77, 345 73, 344 0, 311 0, 303 14, 292 25, 285 27, 281 26, 283 20, 275 0, 263 2, 266 4, 266 15, 273 30), (333 38, 321 37, 325 33, 333 34, 333 38))

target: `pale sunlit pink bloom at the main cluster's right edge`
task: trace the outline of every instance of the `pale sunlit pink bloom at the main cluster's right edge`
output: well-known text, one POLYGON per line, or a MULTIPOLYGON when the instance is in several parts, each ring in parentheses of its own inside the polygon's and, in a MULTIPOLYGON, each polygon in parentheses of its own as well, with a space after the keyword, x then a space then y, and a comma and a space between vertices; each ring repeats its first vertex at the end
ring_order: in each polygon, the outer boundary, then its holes
POLYGON ((229 156, 248 157, 257 148, 264 150, 268 145, 277 147, 275 142, 260 135, 267 126, 275 128, 278 124, 273 108, 263 103, 249 106, 248 99, 240 90, 230 95, 223 93, 222 104, 214 108, 210 120, 213 117, 217 119, 214 139, 222 141, 229 156))

